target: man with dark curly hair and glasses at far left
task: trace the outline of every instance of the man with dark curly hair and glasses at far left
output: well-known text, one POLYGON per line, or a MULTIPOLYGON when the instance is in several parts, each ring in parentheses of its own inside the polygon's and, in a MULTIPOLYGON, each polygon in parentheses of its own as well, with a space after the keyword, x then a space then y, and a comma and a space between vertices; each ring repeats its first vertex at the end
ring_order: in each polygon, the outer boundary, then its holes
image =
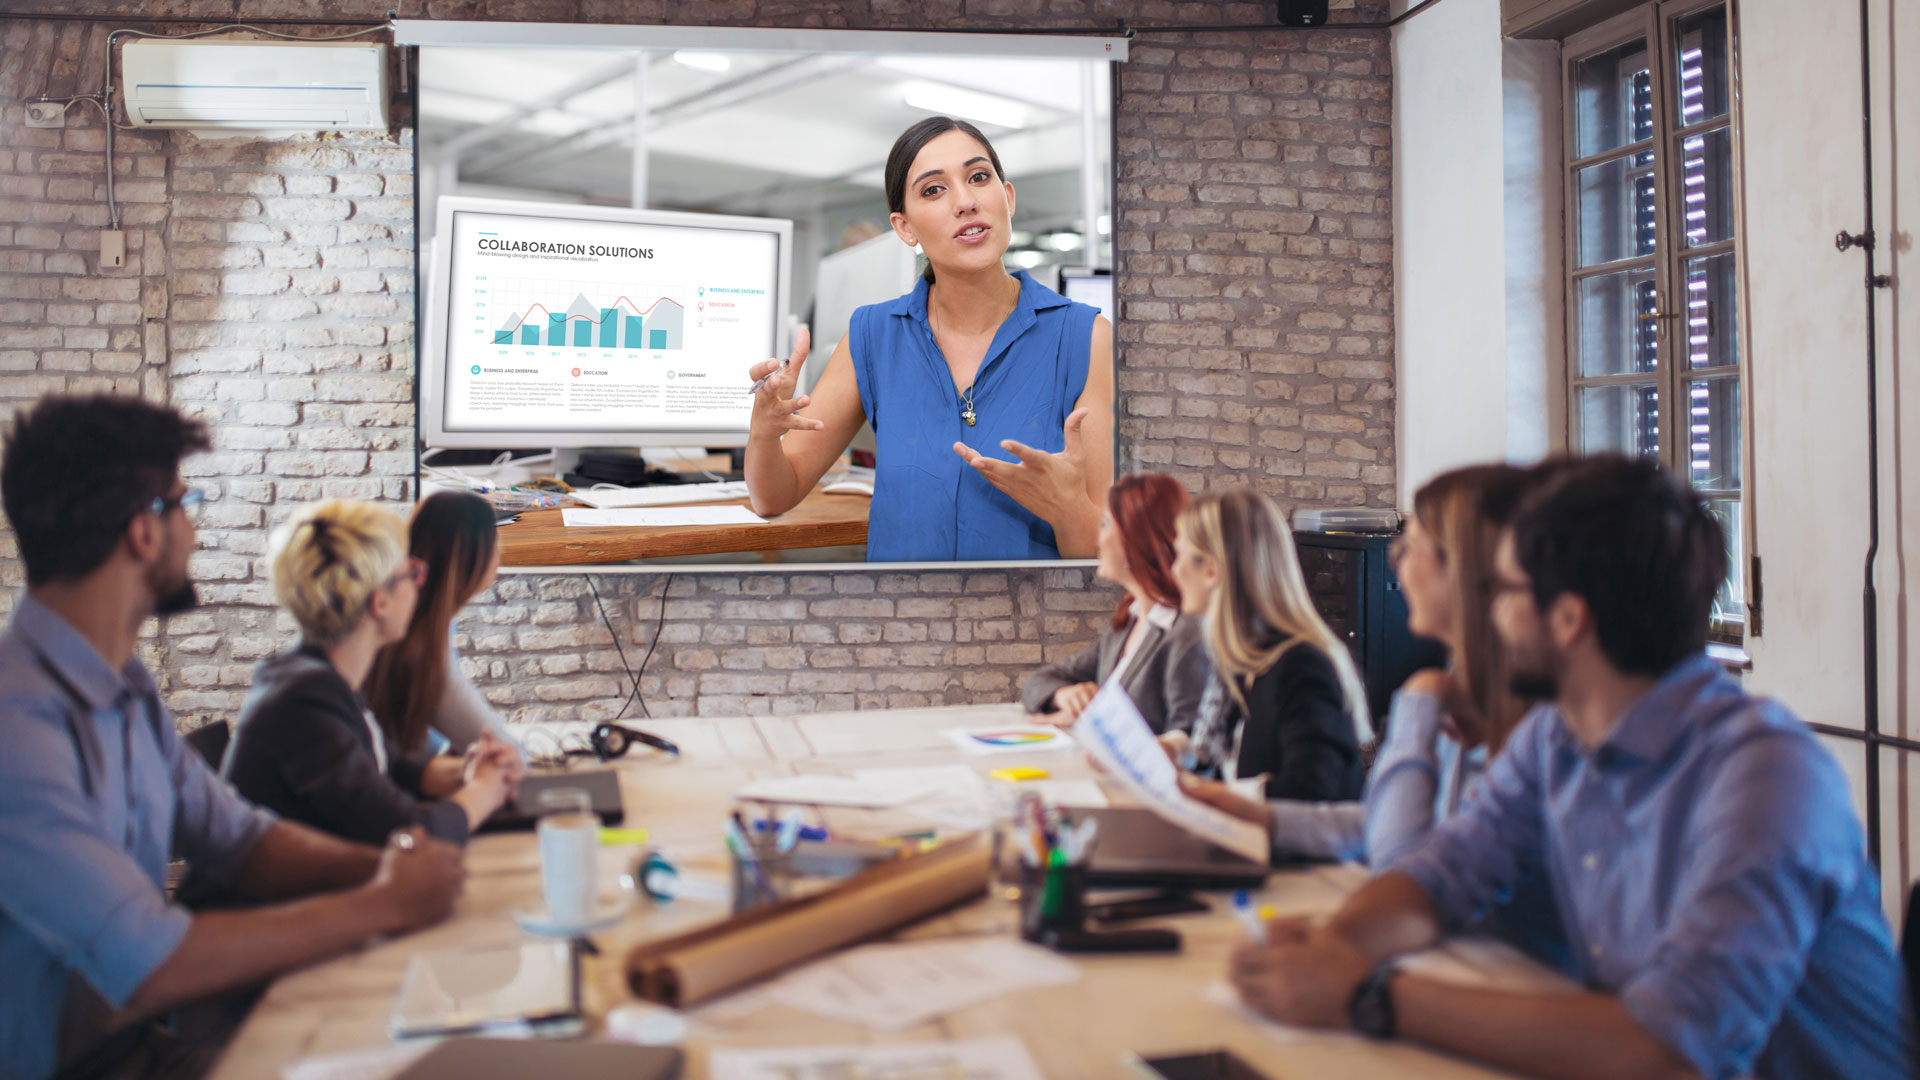
POLYGON ((217 1047, 154 1017, 374 934, 436 922, 459 849, 276 821, 180 742, 134 644, 192 607, 205 427, 136 398, 46 398, 6 438, 0 500, 27 588, 0 634, 0 1080, 192 1076, 217 1047), (190 913, 167 863, 271 901, 190 913), (332 892, 328 892, 332 890, 332 892))

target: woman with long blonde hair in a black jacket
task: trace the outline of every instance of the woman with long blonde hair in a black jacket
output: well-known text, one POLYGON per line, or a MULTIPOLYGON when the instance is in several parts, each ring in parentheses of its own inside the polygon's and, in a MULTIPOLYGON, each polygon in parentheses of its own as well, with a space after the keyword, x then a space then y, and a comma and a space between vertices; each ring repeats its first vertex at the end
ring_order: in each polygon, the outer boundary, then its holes
POLYGON ((1206 617, 1217 673, 1175 755, 1202 774, 1263 774, 1269 799, 1359 798, 1367 694, 1313 609, 1281 507, 1244 488, 1196 498, 1175 525, 1173 577, 1181 607, 1206 617))

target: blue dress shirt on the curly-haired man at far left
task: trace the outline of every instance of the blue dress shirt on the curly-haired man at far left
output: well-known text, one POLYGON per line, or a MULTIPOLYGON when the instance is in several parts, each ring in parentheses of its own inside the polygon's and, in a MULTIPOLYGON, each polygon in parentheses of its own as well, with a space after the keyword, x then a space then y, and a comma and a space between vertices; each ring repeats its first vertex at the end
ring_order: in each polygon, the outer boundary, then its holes
POLYGON ((29 594, 0 634, 0 1080, 40 1080, 69 978, 117 1009, 186 936, 167 861, 230 882, 275 819, 180 742, 138 659, 113 671, 29 594))

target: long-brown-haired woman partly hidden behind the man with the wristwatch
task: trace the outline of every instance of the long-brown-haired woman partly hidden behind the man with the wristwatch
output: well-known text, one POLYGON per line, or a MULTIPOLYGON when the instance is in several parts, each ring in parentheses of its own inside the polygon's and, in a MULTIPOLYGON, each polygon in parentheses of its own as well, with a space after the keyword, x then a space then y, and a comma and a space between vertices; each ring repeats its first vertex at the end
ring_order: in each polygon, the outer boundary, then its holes
POLYGON ((1365 859, 1386 869, 1409 853, 1459 807, 1532 705, 1513 694, 1494 634, 1494 548, 1521 498, 1555 469, 1559 463, 1473 465, 1415 492, 1392 559, 1407 628, 1442 642, 1450 663, 1415 673, 1394 694, 1365 801, 1261 805, 1204 780, 1188 782, 1188 794, 1267 826, 1281 855, 1365 859))

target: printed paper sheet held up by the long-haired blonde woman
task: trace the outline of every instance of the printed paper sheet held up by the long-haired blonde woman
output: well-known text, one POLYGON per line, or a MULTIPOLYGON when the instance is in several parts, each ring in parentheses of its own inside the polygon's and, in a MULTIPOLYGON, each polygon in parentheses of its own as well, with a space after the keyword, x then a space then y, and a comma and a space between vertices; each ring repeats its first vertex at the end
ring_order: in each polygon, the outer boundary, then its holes
POLYGON ((1154 728, 1146 726, 1140 709, 1127 698, 1119 678, 1108 678, 1092 696, 1079 723, 1073 724, 1079 744, 1092 753, 1129 794, 1165 821, 1212 840, 1221 847, 1252 859, 1267 861, 1267 832, 1258 824, 1221 813, 1181 792, 1179 769, 1160 748, 1154 728))

